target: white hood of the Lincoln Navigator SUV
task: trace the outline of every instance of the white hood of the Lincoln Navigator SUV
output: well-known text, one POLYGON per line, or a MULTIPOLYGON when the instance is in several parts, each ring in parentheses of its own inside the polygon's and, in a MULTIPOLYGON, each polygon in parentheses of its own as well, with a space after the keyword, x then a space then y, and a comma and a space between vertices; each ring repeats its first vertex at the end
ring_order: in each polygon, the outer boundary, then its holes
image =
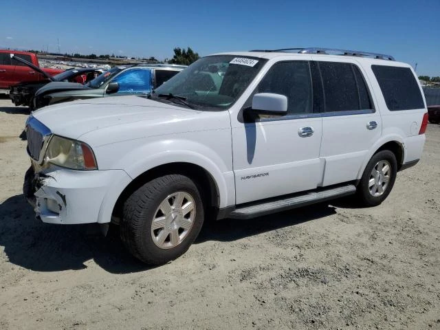
MULTIPOLYGON (((157 131, 157 126, 160 124, 182 122, 201 113, 203 111, 176 107, 138 96, 119 96, 54 104, 34 111, 32 115, 45 124, 52 133, 73 139, 79 139, 86 133, 105 131, 109 127, 118 126, 102 134, 100 140, 108 142, 113 138, 126 140, 137 138, 131 132, 135 122, 136 125, 144 127, 140 134, 146 136, 153 134, 152 126, 156 126, 154 130, 157 131), (122 129, 121 127, 126 124, 130 125, 122 129), (127 131, 130 131, 130 134, 127 135, 127 131)), ((190 125, 184 126, 188 131, 190 125)))

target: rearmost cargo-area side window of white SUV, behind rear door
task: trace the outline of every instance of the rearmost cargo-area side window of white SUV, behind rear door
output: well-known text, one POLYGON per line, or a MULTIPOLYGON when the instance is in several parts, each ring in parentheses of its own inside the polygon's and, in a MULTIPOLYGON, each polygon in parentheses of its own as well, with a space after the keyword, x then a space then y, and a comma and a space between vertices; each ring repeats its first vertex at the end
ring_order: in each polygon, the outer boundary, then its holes
POLYGON ((419 85, 409 67, 371 65, 371 69, 389 110, 399 111, 425 107, 419 85))

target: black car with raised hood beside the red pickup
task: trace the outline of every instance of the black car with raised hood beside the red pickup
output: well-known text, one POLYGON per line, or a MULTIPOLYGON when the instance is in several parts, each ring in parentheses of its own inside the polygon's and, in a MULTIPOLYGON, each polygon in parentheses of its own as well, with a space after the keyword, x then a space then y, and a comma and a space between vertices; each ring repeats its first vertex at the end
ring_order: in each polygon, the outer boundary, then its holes
POLYGON ((34 69, 36 72, 42 74, 45 78, 41 80, 32 80, 32 81, 23 81, 17 85, 14 85, 10 88, 9 97, 16 106, 25 105, 30 107, 32 110, 34 108, 34 95, 35 92, 38 91, 44 85, 51 82, 69 82, 69 83, 80 83, 85 84, 90 80, 93 80, 104 70, 89 68, 89 69, 67 69, 65 72, 61 72, 61 74, 56 74, 55 76, 51 76, 47 74, 47 72, 43 71, 40 67, 36 67, 32 65, 32 63, 28 63, 27 61, 23 61, 21 58, 14 57, 16 61, 24 63, 28 65, 31 69, 34 69))

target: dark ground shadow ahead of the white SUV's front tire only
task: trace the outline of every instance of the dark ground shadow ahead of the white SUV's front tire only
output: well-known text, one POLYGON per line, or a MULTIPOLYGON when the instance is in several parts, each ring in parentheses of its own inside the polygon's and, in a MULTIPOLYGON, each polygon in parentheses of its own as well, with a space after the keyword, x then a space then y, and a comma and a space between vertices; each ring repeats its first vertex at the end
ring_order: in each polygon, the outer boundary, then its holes
POLYGON ((126 252, 116 234, 104 237, 89 225, 42 223, 23 195, 0 205, 0 245, 10 263, 38 272, 80 270, 90 259, 113 274, 151 268, 126 252))

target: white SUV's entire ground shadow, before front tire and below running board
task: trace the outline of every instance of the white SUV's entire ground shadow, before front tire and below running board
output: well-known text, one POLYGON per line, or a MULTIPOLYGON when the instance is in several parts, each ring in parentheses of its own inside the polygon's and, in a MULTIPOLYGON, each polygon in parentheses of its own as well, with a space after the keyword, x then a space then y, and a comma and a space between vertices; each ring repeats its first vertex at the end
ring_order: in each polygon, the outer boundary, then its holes
MULTIPOLYGON (((336 213, 326 203, 250 220, 208 221, 195 243, 235 241, 336 213)), ((126 251, 118 232, 106 237, 90 225, 50 225, 34 218, 23 195, 0 205, 0 246, 10 263, 38 272, 81 270, 93 259, 103 270, 126 274, 150 270, 126 251)))

